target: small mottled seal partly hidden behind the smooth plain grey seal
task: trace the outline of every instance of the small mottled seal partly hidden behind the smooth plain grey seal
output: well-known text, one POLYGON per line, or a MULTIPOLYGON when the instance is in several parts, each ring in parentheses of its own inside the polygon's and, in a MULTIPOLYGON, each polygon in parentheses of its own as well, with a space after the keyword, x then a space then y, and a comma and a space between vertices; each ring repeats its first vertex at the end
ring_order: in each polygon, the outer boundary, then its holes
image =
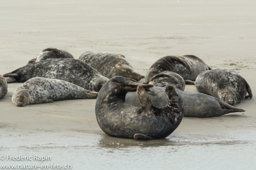
POLYGON ((154 84, 156 87, 176 86, 176 84, 180 84, 177 89, 185 90, 185 81, 182 76, 172 71, 163 71, 160 74, 154 75, 148 84, 154 84))

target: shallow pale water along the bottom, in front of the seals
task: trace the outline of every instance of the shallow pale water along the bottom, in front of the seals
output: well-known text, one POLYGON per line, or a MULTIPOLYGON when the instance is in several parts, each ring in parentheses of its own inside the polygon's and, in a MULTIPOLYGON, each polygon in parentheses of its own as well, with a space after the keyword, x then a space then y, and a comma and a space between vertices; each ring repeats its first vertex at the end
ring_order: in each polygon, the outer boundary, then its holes
MULTIPOLYGON (((75 170, 256 168, 255 141, 173 142, 102 137, 84 146, 1 148, 1 155, 51 156, 51 160, 1 160, 1 164, 71 164, 75 170)), ((49 168, 51 169, 51 168, 49 168)))

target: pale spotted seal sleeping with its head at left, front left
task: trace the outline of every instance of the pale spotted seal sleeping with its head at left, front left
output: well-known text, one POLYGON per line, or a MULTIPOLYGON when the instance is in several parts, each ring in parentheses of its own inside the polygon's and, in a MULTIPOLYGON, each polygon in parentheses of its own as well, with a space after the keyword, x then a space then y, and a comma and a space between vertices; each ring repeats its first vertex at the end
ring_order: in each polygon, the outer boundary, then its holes
POLYGON ((12 103, 23 107, 57 100, 96 99, 97 96, 98 92, 85 90, 64 80, 36 77, 16 88, 12 95, 12 103))

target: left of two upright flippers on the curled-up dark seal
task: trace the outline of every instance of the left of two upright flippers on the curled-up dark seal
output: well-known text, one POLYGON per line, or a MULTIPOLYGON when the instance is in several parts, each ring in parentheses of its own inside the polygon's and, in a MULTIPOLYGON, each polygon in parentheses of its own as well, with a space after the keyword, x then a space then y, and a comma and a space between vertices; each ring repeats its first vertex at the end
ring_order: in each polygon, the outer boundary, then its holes
POLYGON ((148 97, 146 90, 139 85, 136 92, 138 99, 140 101, 141 113, 152 113, 153 114, 153 105, 148 97))

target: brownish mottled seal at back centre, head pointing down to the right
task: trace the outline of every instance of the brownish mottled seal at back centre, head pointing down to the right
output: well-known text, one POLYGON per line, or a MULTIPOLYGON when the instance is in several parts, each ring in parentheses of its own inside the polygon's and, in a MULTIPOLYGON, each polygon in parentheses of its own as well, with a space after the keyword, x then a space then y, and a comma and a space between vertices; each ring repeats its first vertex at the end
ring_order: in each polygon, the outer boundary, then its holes
POLYGON ((78 60, 84 61, 107 78, 114 76, 123 76, 139 81, 145 76, 135 72, 132 65, 128 63, 124 55, 115 53, 93 53, 87 51, 83 53, 78 60))

